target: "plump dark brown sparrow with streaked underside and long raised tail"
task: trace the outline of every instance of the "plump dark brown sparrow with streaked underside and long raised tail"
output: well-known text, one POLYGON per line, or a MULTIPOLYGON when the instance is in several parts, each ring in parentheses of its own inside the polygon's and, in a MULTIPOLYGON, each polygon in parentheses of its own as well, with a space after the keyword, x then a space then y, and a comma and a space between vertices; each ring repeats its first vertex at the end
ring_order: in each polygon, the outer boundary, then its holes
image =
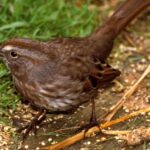
POLYGON ((94 100, 98 88, 120 74, 105 62, 113 41, 148 5, 150 0, 126 0, 88 37, 48 42, 12 39, 2 45, 0 55, 17 90, 32 105, 50 112, 73 109, 94 100))

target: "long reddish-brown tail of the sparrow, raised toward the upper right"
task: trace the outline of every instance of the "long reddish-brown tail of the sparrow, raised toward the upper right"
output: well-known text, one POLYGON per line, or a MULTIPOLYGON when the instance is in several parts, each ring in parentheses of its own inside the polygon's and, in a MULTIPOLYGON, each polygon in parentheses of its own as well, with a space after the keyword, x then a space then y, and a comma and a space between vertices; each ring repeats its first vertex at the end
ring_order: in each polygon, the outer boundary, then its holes
POLYGON ((90 35, 89 38, 95 40, 99 59, 105 60, 109 56, 112 46, 108 45, 111 45, 117 35, 148 6, 150 0, 125 0, 106 23, 90 35))

